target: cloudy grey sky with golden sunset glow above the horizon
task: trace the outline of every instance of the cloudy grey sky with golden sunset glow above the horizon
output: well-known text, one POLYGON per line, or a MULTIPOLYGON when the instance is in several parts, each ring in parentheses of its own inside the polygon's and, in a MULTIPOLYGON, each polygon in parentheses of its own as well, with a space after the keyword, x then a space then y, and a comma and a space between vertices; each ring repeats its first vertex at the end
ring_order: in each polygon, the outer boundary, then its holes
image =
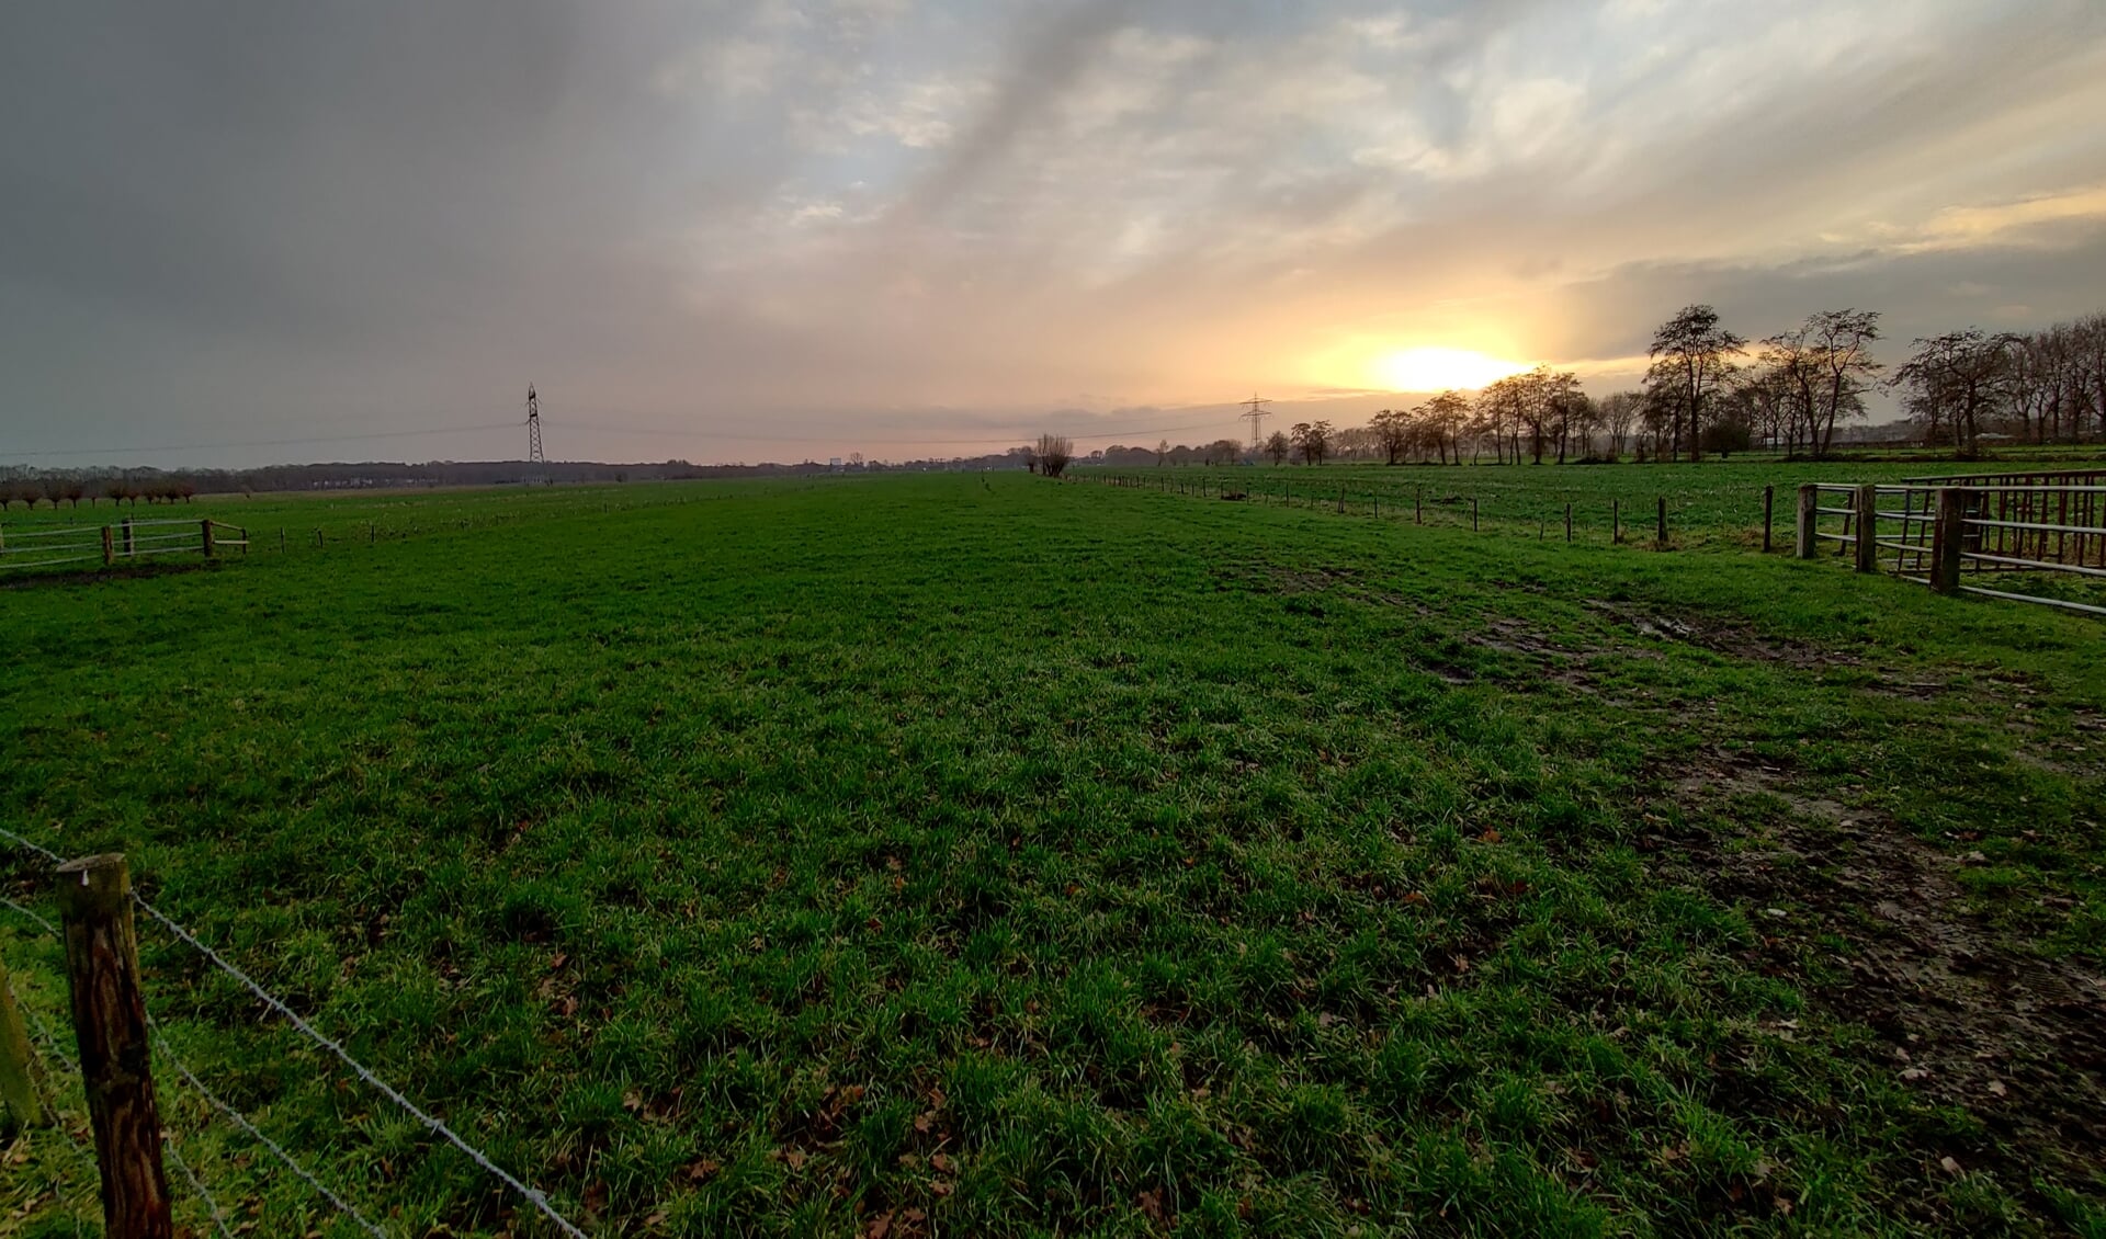
POLYGON ((17 0, 0 465, 1082 450, 2106 309, 2098 0, 17 0), (1493 370, 1485 370, 1485 364, 1493 370))

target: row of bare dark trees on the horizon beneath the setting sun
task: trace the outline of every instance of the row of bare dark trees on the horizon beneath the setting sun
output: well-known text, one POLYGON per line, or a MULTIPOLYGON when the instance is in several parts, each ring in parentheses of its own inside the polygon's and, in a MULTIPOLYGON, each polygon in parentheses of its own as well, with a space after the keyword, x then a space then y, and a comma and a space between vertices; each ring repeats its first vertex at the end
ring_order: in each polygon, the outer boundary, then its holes
POLYGON ((1910 343, 1887 374, 1874 356, 1876 309, 1824 309, 1748 341, 1710 305, 1660 324, 1638 389, 1588 395, 1571 370, 1537 366, 1476 391, 1441 391, 1415 408, 1384 408, 1365 427, 1295 423, 1255 448, 1112 446, 1093 465, 1232 465, 1268 459, 1544 463, 1700 461, 1754 448, 1828 456, 1868 419, 1866 398, 1889 391, 1910 442, 1975 456, 1992 442, 2106 440, 2106 313, 2034 332, 1963 328, 1910 343))

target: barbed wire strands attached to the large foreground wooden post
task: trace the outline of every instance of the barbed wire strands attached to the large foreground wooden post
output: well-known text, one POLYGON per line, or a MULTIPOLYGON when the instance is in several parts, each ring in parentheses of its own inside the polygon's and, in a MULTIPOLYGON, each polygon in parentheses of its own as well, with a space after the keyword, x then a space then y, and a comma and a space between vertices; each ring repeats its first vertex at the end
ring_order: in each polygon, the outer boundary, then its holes
MULTIPOLYGON (((19 850, 29 852, 29 854, 34 854, 40 860, 46 860, 51 865, 61 865, 63 862, 63 858, 59 856, 59 852, 55 852, 55 850, 38 844, 36 839, 27 839, 27 837, 23 837, 23 835, 19 835, 15 831, 8 831, 4 827, 0 827, 0 839, 11 841, 19 850)), ((217 968, 221 974, 230 976, 236 984, 240 984, 242 989, 246 989, 257 1001, 261 1001, 265 1008, 270 1008, 272 1012, 276 1012, 280 1018, 284 1018, 301 1037, 305 1037, 316 1048, 324 1050, 329 1056, 333 1056, 335 1060, 339 1060, 352 1075, 356 1075, 362 1083, 366 1083, 373 1092, 381 1094, 392 1104, 396 1104, 400 1111, 404 1111, 430 1136, 434 1136, 434 1138, 442 1140, 444 1144, 453 1146, 455 1151, 459 1151, 461 1155, 465 1155, 478 1170, 482 1170, 486 1176, 491 1176, 495 1182, 503 1184, 505 1189, 510 1189, 512 1193, 516 1193, 520 1199, 524 1199, 535 1210, 535 1214, 539 1214, 541 1218, 545 1218, 550 1222, 550 1226, 554 1226, 558 1233, 567 1235, 569 1239, 585 1239, 585 1233, 575 1222, 571 1222, 562 1212, 558 1212, 556 1205, 548 1199, 548 1195, 543 1191, 539 1191, 539 1189, 522 1182, 518 1176, 514 1176, 508 1170, 503 1170, 497 1161, 491 1159, 489 1153, 484 1153, 482 1149, 478 1149, 478 1146, 470 1144, 468 1140, 463 1140, 459 1136, 459 1132, 455 1132, 449 1123, 444 1123, 442 1119, 434 1117, 430 1111, 425 1111, 423 1106, 419 1106, 417 1102, 413 1102, 409 1096, 402 1094, 402 1090, 398 1090, 392 1083, 388 1083, 385 1079, 381 1079, 371 1067, 366 1067, 364 1062, 358 1062, 356 1058, 352 1058, 352 1054, 345 1052, 339 1041, 335 1041, 333 1037, 326 1037, 324 1033, 320 1033, 312 1022, 307 1022, 299 1012, 295 1012, 284 999, 280 999, 278 995, 274 995, 272 991, 267 991, 263 984, 259 984, 253 976, 249 976, 249 972, 244 972, 242 968, 238 968, 232 961, 227 961, 225 955, 221 955, 211 945, 206 945, 198 934, 194 934, 192 930, 183 928, 173 917, 168 917, 166 913, 162 913, 160 909, 156 909, 152 902, 147 902, 143 896, 139 896, 139 892, 133 892, 131 902, 133 902, 135 911, 143 913, 147 919, 152 919, 162 930, 166 930, 168 936, 175 942, 181 942, 183 947, 190 947, 192 951, 196 951, 198 955, 202 955, 213 968, 217 968)), ((61 928, 57 923, 53 923, 48 917, 44 917, 42 913, 38 913, 36 909, 29 909, 29 907, 25 907, 25 905, 21 905, 21 902, 17 902, 13 898, 6 898, 6 896, 0 896, 0 905, 4 905, 11 911, 23 915, 27 921, 36 923, 38 930, 42 930, 44 934, 63 938, 61 928)), ((42 1024, 40 1018, 38 1018, 38 1022, 42 1024)), ((204 1079, 187 1062, 183 1062, 171 1050, 164 1031, 152 1018, 152 1014, 147 1016, 147 1027, 152 1031, 152 1041, 154 1041, 154 1054, 156 1054, 156 1058, 160 1062, 164 1062, 166 1067, 171 1067, 192 1090, 196 1090, 196 1094, 213 1111, 217 1111, 219 1115, 223 1115, 234 1128, 238 1128, 251 1140, 255 1140, 257 1144, 261 1144, 297 1180, 301 1180, 314 1195, 318 1195, 322 1201, 326 1201, 333 1210, 337 1210, 354 1226, 358 1226, 366 1235, 373 1235, 375 1239, 388 1239, 388 1233, 379 1224, 375 1224, 366 1214, 362 1214, 356 1205, 352 1205, 347 1199, 343 1199, 343 1195, 339 1195, 329 1184, 324 1184, 320 1180, 320 1176, 316 1176, 307 1165, 303 1165, 297 1157, 293 1157, 293 1153, 286 1151, 278 1140, 272 1140, 265 1132, 261 1132, 257 1128, 257 1123, 253 1121, 251 1115, 242 1113, 238 1106, 230 1104, 225 1098, 221 1098, 217 1092, 213 1092, 204 1083, 204 1079)), ((51 1035, 48 1024, 44 1024, 44 1033, 46 1033, 46 1041, 51 1041, 51 1050, 55 1050, 61 1056, 61 1060, 67 1064, 67 1069, 74 1075, 78 1075, 78 1071, 80 1071, 78 1060, 72 1060, 72 1056, 63 1054, 63 1048, 57 1045, 57 1037, 51 1035)), ((78 1146, 78 1138, 76 1138, 76 1146, 78 1146)), ((211 1220, 217 1224, 219 1233, 227 1235, 225 1212, 219 1207, 217 1199, 206 1191, 206 1184, 196 1174, 196 1170, 181 1159, 181 1153, 177 1151, 173 1138, 166 1136, 166 1134, 164 1134, 164 1140, 162 1140, 162 1149, 171 1155, 171 1161, 179 1163, 181 1174, 192 1182, 192 1189, 196 1191, 196 1195, 198 1195, 200 1203, 204 1205, 206 1214, 211 1216, 211 1220)))

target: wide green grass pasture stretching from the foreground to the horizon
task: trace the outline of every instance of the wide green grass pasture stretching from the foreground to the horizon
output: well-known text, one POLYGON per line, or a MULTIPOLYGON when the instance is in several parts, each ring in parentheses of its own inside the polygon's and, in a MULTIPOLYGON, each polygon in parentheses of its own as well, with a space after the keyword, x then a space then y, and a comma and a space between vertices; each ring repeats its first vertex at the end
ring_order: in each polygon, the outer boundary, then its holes
MULTIPOLYGON (((1390 473, 1508 507, 200 501, 246 560, 0 587, 0 825, 598 1235, 2106 1233, 2106 629, 1750 551, 1820 471, 1390 473), (1527 530, 1655 492, 1678 549, 1527 530)), ((390 1235, 548 1233, 141 940, 390 1235)), ((230 1222, 356 1233, 160 1092, 230 1222)), ((0 1231, 97 1233, 63 1100, 0 1231)))

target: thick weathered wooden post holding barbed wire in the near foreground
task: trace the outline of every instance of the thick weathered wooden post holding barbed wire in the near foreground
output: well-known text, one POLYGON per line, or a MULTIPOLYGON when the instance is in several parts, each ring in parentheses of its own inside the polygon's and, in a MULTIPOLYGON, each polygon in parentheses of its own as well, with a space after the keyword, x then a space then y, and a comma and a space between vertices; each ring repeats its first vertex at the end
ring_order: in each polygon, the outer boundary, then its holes
POLYGON ((103 1176, 105 1233, 110 1239, 173 1239, 124 856, 59 865, 57 896, 80 1077, 95 1128, 95 1165, 103 1176))

